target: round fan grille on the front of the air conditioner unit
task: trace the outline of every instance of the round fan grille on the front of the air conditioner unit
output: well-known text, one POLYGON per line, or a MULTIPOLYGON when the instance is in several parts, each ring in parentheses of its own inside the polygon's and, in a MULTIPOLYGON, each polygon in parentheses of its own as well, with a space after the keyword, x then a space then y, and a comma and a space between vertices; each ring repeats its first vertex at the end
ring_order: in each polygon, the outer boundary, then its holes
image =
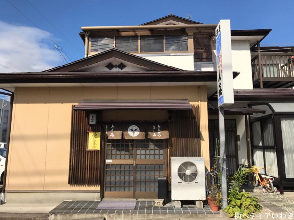
POLYGON ((179 166, 178 176, 184 182, 193 182, 198 176, 198 169, 195 163, 184 162, 179 166))

